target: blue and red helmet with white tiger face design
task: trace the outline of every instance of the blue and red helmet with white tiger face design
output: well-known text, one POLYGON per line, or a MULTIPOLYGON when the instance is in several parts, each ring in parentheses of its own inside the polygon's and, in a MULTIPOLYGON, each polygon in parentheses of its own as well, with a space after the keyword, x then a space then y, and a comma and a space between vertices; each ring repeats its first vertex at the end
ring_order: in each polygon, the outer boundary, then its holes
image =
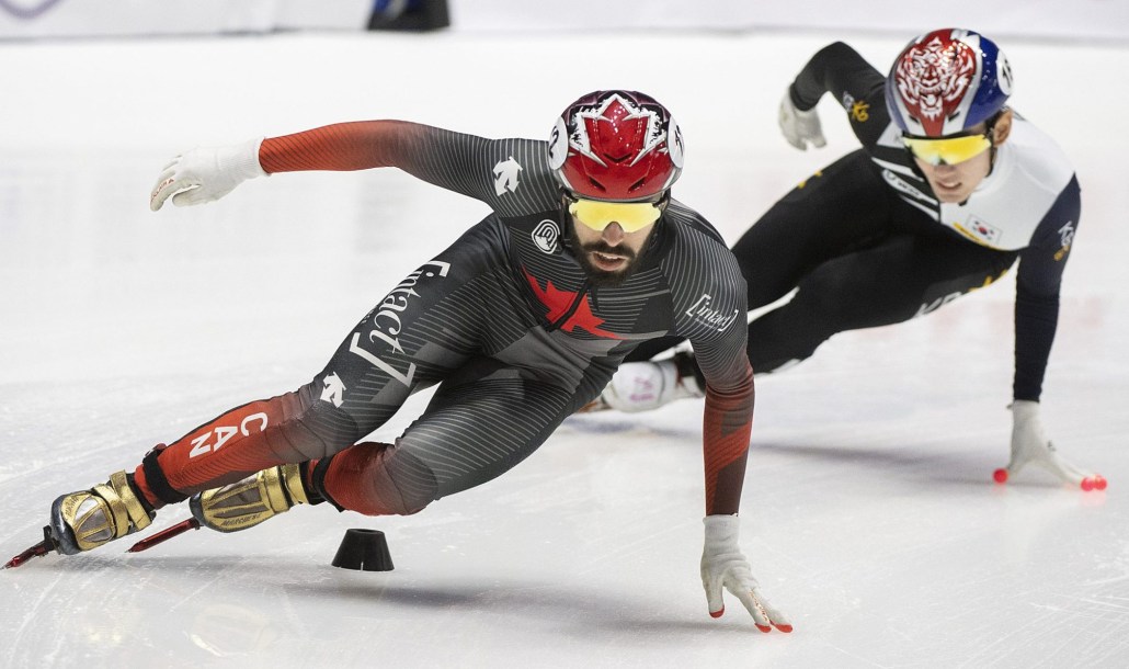
POLYGON ((1012 95, 1012 68, 995 42, 943 28, 916 37, 886 77, 886 106, 905 134, 946 137, 990 121, 1012 95))

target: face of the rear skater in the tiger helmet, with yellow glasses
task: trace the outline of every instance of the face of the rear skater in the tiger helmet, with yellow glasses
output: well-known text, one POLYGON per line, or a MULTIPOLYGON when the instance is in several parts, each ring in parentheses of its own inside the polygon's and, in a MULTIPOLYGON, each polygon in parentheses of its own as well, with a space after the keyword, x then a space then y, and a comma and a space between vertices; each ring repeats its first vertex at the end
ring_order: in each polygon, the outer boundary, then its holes
POLYGON ((1012 112, 1004 112, 990 131, 987 124, 963 137, 937 140, 907 139, 918 168, 942 202, 963 202, 991 173, 995 151, 1012 131, 1012 112))

